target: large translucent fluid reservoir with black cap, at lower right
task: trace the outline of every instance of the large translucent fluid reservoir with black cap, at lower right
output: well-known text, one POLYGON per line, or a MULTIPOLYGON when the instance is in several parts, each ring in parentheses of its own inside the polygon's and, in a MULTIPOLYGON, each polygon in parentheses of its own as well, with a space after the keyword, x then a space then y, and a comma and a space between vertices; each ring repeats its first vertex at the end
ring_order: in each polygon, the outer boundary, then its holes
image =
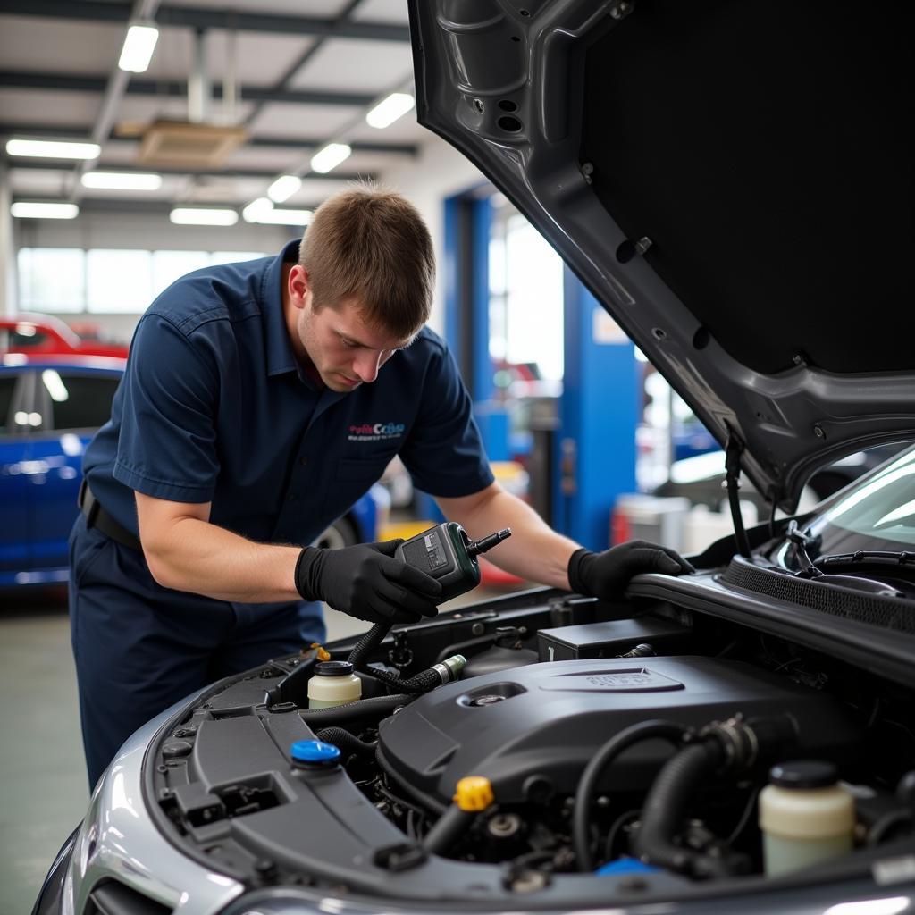
POLYGON ((852 850, 855 802, 832 763, 786 762, 759 792, 766 874, 811 867, 852 850))

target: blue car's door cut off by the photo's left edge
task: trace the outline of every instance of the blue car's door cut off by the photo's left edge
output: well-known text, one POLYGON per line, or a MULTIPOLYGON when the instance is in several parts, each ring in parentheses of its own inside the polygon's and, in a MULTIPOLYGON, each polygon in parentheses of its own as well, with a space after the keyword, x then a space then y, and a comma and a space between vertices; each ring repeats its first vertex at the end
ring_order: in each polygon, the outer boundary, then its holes
POLYGON ((16 583, 31 565, 29 497, 24 466, 34 419, 27 397, 27 371, 0 369, 0 586, 16 583))

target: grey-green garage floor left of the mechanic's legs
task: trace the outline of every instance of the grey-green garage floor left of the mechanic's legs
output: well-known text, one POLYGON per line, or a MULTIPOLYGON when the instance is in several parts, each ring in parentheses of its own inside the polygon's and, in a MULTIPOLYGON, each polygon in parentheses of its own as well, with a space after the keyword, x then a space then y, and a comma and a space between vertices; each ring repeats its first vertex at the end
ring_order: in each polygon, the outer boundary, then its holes
MULTIPOLYGON (((328 611, 331 639, 367 628, 328 611)), ((89 802, 62 588, 0 595, 0 776, 0 913, 27 915, 89 802)))

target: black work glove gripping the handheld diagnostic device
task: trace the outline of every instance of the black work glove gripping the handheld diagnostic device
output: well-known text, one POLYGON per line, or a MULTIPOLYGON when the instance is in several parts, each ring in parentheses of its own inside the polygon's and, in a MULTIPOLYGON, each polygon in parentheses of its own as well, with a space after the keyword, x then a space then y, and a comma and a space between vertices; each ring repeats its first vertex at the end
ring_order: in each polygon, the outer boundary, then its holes
POLYGON ((403 540, 326 550, 307 546, 296 563, 296 589, 306 600, 373 623, 414 623, 438 612, 442 586, 393 554, 403 540))

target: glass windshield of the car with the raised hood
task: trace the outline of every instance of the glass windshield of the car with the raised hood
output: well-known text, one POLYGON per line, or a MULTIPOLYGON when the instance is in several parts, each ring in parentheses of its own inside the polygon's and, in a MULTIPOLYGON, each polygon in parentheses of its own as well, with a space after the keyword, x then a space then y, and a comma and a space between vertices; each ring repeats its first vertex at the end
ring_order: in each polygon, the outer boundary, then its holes
MULTIPOLYGON (((857 550, 915 549, 915 447, 863 479, 823 511, 804 532, 813 559, 857 550)), ((781 547, 782 565, 797 568, 796 551, 781 547)))

